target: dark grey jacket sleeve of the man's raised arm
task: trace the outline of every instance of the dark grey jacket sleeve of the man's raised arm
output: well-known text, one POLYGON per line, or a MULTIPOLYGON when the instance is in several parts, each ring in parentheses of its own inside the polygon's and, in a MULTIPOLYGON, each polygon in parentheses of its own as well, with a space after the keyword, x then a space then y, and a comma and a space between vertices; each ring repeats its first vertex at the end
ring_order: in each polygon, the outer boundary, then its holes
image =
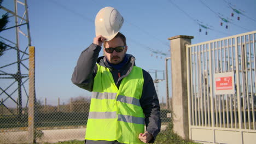
POLYGON ((91 44, 78 58, 77 65, 71 81, 80 88, 92 91, 94 77, 97 73, 97 58, 101 51, 101 46, 91 44))

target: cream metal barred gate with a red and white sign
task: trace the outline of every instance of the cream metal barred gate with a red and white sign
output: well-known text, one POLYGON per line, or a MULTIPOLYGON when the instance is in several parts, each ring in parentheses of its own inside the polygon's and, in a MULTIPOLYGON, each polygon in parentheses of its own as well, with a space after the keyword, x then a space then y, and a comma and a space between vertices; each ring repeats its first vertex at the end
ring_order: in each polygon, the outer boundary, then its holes
POLYGON ((189 137, 256 142, 256 31, 187 45, 189 137))

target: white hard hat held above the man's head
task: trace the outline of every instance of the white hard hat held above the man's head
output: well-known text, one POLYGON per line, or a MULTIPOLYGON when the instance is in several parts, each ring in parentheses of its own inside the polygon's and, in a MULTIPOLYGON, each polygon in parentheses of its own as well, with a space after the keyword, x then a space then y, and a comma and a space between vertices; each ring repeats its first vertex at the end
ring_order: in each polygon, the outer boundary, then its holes
POLYGON ((124 18, 117 9, 112 7, 102 8, 95 17, 96 37, 102 35, 107 41, 113 39, 118 34, 123 22, 124 18))

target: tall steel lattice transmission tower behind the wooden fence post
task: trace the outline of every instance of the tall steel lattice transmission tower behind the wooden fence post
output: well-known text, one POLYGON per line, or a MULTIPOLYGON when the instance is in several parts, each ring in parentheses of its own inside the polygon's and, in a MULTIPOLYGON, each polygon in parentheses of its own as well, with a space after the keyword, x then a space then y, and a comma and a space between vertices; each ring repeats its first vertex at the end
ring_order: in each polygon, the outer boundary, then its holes
MULTIPOLYGON (((28 104, 28 47, 31 46, 27 0, 3 1, 1 13, 8 13, 9 22, 0 39, 7 46, 0 57, 0 106, 9 113, 22 113, 22 101, 28 104), (8 4, 5 4, 5 3, 8 4), (6 5, 6 6, 5 6, 6 5), (16 106, 15 113, 8 107, 16 106)), ((25 104, 24 104, 25 106, 25 104)))

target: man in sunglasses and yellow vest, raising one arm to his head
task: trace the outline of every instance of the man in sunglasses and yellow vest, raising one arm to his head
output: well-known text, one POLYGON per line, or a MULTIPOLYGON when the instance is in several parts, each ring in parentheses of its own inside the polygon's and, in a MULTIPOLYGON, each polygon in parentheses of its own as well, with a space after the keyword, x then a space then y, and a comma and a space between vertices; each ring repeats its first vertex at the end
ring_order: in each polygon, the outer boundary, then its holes
POLYGON ((85 143, 152 143, 161 127, 152 77, 126 54, 123 34, 105 40, 102 35, 94 38, 72 75, 75 85, 92 91, 85 143), (103 43, 104 56, 98 58, 103 43))

